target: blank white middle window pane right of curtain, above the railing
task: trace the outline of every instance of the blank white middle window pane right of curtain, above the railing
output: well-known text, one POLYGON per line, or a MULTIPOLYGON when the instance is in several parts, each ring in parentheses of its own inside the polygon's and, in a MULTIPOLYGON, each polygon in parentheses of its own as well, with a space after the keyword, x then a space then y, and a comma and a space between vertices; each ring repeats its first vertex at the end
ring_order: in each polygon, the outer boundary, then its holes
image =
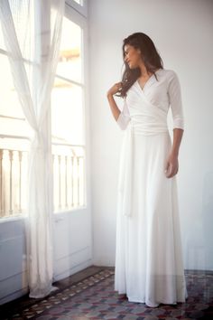
POLYGON ((56 78, 51 94, 53 142, 84 144, 82 89, 56 78))

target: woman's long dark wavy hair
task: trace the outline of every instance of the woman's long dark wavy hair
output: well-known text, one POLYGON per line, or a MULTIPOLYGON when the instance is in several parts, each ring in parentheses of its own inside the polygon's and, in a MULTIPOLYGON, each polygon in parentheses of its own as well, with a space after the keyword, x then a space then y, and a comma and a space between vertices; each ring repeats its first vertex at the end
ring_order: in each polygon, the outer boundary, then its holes
MULTIPOLYGON (((157 52, 153 41, 145 33, 133 33, 125 38, 123 43, 123 59, 125 61, 125 45, 132 45, 135 49, 140 49, 142 52, 142 60, 148 72, 154 74, 156 70, 162 68, 163 62, 160 54, 157 52)), ((122 77, 122 88, 119 90, 117 96, 124 98, 127 90, 132 87, 134 82, 141 76, 140 68, 130 69, 128 63, 125 62, 125 71, 122 77)), ((157 80, 157 78, 156 78, 157 80)))

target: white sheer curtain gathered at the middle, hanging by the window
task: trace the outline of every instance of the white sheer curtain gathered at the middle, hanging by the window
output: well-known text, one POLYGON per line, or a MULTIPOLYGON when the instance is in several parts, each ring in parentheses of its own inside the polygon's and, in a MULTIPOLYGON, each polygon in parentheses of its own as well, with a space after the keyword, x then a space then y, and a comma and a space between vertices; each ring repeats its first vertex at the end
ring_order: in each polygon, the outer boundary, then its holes
POLYGON ((27 256, 31 297, 52 289, 51 88, 65 0, 1 0, 0 19, 14 87, 32 127, 27 256))

